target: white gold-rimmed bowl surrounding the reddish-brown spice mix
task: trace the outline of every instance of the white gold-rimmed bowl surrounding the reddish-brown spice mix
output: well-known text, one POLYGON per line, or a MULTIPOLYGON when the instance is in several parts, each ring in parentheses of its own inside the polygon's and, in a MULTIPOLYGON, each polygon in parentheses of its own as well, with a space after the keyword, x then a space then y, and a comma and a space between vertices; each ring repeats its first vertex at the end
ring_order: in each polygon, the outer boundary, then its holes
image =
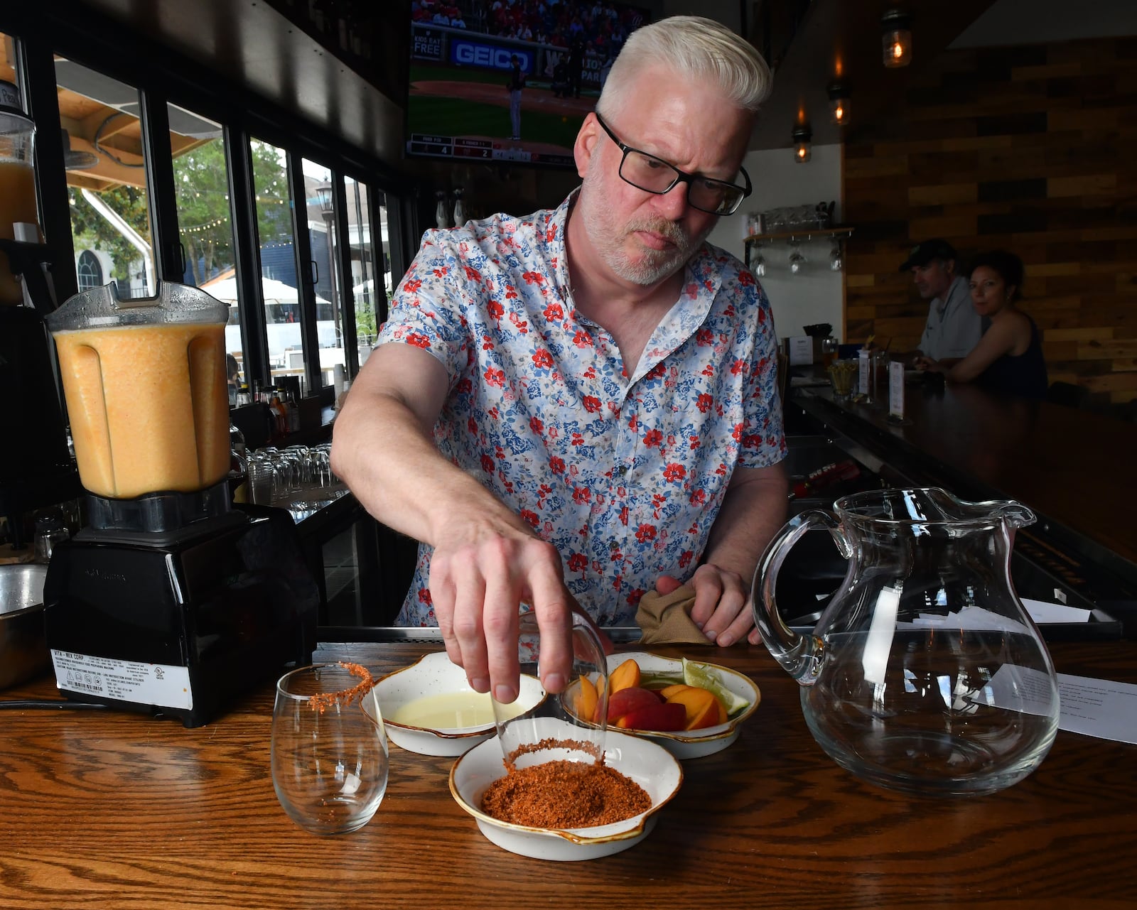
MULTIPOLYGON (((540 718, 539 732, 553 738, 571 738, 579 728, 551 717, 540 718)), ((586 860, 608 857, 634 846, 655 827, 656 813, 679 792, 683 769, 666 750, 637 736, 608 729, 605 763, 639 784, 652 798, 646 812, 591 828, 533 828, 500 821, 481 810, 487 787, 505 776, 501 744, 497 737, 471 749, 450 769, 450 793, 478 821, 485 838, 522 857, 547 860, 586 860)))

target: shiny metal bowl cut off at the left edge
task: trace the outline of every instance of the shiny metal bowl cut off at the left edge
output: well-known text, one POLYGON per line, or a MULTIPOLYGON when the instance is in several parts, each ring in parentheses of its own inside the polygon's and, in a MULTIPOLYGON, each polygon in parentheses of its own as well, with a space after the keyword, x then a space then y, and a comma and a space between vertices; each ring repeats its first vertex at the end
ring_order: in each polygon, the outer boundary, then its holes
POLYGON ((47 669, 43 638, 43 579, 48 567, 34 562, 0 566, 0 688, 47 669))

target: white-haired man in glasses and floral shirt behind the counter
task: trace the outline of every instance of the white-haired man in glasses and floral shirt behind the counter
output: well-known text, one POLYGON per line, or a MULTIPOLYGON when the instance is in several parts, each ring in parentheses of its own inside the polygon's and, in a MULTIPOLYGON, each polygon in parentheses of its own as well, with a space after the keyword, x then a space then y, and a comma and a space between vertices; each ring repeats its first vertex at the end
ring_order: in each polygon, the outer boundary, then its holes
POLYGON ((399 623, 437 624, 512 701, 518 606, 542 682, 571 612, 629 624, 695 592, 707 640, 757 642, 750 579, 786 512, 777 339, 762 289, 705 242, 750 192, 770 72, 709 19, 632 33, 558 208, 426 232, 335 424, 332 465, 422 541, 399 623))

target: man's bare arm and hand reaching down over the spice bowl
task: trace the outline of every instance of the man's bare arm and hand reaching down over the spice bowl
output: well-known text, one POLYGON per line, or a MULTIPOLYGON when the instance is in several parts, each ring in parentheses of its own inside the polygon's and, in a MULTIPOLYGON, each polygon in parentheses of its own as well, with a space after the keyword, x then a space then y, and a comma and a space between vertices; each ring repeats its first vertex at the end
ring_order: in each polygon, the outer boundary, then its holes
POLYGON ((431 437, 448 390, 442 365, 409 344, 383 344, 363 366, 335 419, 332 467, 380 521, 425 541, 430 592, 450 659, 479 692, 513 701, 518 688, 517 611, 532 604, 542 683, 572 670, 561 556, 474 477, 442 458, 431 437))

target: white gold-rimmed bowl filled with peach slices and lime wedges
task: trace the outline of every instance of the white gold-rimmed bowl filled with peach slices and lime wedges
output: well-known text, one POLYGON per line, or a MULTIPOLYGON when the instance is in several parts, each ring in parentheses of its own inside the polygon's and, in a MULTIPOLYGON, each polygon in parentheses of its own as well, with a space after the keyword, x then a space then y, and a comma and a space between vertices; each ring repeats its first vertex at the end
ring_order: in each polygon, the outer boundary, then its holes
MULTIPOLYGON (((728 667, 646 651, 609 654, 608 687, 608 727, 654 740, 679 759, 729 746, 762 698, 749 677, 728 667)), ((567 709, 597 723, 596 684, 582 677, 570 690, 567 709)))

